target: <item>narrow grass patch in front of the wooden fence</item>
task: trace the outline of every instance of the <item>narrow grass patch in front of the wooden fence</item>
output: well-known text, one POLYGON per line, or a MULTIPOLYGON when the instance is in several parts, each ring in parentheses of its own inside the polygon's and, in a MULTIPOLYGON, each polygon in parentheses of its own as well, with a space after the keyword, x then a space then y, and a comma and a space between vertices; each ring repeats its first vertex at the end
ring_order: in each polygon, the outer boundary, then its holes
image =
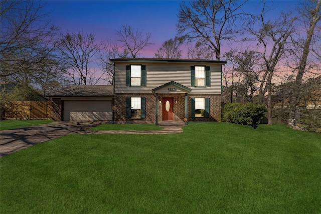
POLYGON ((0 130, 8 130, 20 127, 34 126, 55 122, 53 120, 2 120, 0 122, 0 130))

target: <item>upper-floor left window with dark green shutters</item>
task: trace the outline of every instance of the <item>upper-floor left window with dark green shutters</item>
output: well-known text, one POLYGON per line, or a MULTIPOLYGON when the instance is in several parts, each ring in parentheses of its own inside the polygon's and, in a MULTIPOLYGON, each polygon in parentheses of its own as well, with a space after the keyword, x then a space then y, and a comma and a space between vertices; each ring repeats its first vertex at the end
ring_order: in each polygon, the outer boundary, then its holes
POLYGON ((126 86, 146 86, 146 66, 126 65, 126 86))

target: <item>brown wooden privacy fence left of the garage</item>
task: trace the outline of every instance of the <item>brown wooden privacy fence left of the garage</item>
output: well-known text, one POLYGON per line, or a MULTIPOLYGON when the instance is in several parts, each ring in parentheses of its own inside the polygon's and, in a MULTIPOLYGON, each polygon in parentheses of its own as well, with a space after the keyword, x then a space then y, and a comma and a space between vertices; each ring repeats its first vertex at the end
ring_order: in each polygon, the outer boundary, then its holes
POLYGON ((5 104, 6 119, 51 119, 51 101, 10 101, 5 104))

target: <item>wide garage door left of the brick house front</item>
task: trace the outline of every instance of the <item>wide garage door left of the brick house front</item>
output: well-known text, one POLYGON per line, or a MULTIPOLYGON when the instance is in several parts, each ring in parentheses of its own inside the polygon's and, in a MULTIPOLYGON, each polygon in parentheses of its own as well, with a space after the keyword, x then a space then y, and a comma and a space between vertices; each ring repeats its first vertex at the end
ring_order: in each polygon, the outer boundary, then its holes
POLYGON ((64 121, 112 120, 111 100, 65 100, 64 121))

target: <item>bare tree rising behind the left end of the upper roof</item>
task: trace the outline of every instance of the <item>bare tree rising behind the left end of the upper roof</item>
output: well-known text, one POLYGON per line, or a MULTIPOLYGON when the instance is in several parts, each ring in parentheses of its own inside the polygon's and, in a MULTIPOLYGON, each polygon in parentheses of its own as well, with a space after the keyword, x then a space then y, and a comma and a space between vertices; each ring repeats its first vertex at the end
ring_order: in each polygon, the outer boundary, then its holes
POLYGON ((143 34, 138 29, 133 30, 130 25, 123 25, 118 31, 118 42, 120 42, 119 48, 115 46, 115 50, 121 50, 118 52, 118 56, 126 57, 130 54, 132 58, 136 58, 140 55, 140 51, 153 43, 149 42, 150 33, 143 34))

